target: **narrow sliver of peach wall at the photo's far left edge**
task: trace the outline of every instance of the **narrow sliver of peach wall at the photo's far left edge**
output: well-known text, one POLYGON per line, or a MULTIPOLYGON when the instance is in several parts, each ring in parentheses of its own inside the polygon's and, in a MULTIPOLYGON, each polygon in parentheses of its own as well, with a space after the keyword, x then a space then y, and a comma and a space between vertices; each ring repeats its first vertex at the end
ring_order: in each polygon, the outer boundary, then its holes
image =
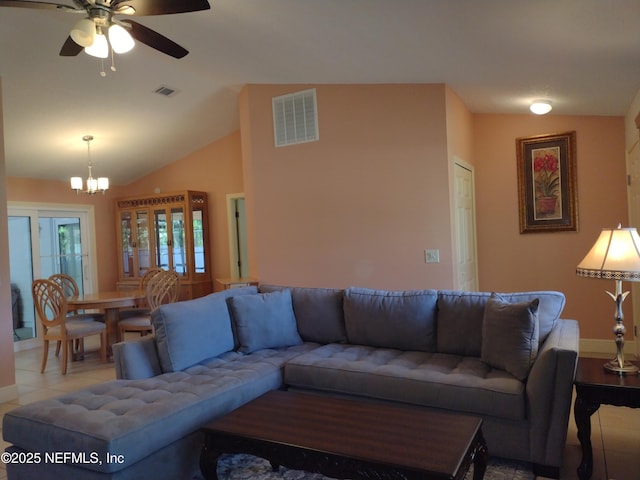
MULTIPOLYGON (((3 118, 2 78, 0 78, 0 222, 2 225, 7 225, 3 118)), ((13 358, 9 237, 5 227, 0 229, 0 402, 13 400, 17 394, 13 358)))

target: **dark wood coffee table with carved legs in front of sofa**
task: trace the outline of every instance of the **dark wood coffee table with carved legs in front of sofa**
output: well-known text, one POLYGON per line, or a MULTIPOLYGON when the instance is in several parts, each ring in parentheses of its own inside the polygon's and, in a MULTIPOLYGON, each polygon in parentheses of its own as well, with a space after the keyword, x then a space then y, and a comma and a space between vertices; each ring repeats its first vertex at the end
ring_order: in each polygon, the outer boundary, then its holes
POLYGON ((206 425, 200 469, 247 453, 334 478, 481 480, 488 453, 482 419, 418 407, 272 391, 206 425))

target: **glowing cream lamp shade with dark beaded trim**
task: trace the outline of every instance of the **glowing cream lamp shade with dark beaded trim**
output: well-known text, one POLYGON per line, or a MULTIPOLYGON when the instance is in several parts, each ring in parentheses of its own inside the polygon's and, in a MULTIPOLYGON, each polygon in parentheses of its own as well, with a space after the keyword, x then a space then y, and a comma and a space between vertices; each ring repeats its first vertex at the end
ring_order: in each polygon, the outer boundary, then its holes
POLYGON ((576 273, 582 277, 640 281, 640 236, 635 228, 603 229, 576 273))

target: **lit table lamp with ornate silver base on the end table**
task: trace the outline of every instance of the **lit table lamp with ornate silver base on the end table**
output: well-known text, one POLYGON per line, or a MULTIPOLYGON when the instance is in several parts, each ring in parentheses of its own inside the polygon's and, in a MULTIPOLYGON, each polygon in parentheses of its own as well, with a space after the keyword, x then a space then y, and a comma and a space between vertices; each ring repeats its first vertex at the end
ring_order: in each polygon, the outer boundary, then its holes
POLYGON ((635 228, 603 229, 587 256, 582 259, 576 273, 581 277, 615 280, 615 294, 607 292, 616 302, 613 333, 616 336, 616 358, 604 364, 608 371, 625 375, 638 373, 638 367, 624 360, 624 334, 622 302, 629 292, 622 292, 622 281, 640 281, 640 236, 635 228))

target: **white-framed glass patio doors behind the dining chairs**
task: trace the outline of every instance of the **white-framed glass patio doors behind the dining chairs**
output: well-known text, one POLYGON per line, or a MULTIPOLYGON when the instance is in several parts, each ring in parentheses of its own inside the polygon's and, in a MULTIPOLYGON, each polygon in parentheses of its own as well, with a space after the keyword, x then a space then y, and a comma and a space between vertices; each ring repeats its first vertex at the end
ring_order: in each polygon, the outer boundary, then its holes
POLYGON ((41 345, 31 282, 54 273, 74 278, 81 292, 96 279, 92 207, 8 204, 14 351, 41 345))

